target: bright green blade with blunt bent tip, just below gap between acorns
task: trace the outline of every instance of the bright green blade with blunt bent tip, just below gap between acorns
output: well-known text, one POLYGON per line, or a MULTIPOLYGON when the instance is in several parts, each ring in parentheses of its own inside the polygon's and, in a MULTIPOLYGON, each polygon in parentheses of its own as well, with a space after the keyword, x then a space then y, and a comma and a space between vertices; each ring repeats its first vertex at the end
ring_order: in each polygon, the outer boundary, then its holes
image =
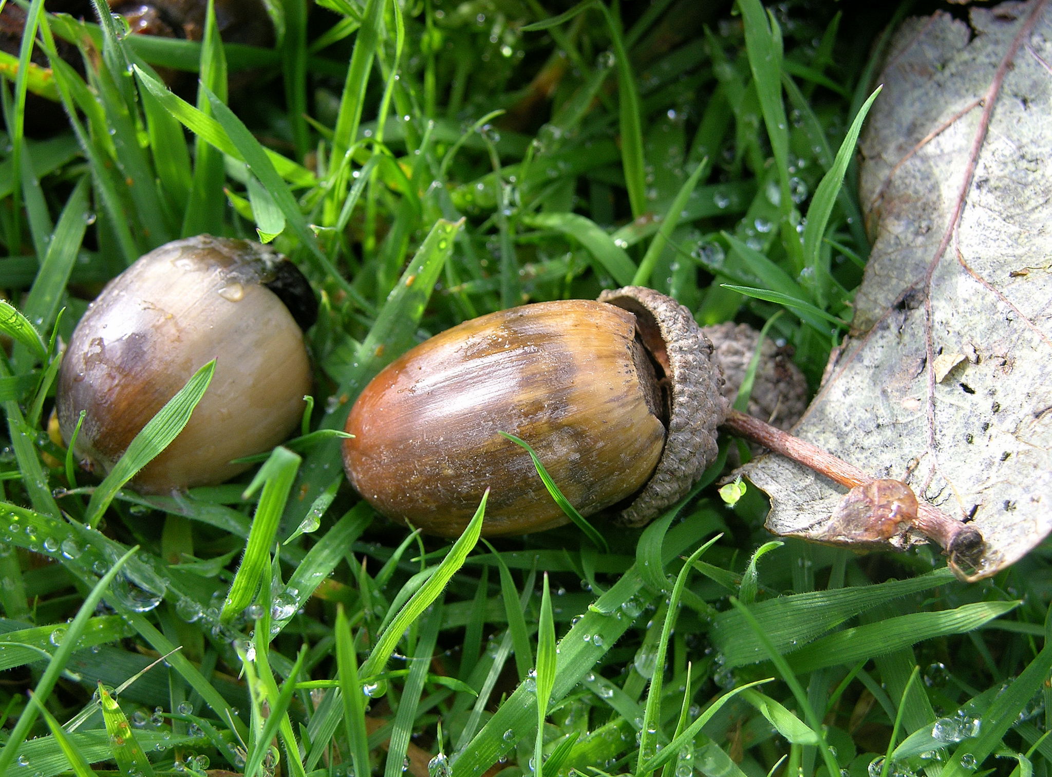
POLYGON ((270 566, 270 550, 275 545, 278 524, 301 461, 295 453, 279 445, 245 489, 246 498, 260 487, 263 491, 252 518, 248 542, 245 543, 245 555, 241 558, 219 616, 225 623, 234 620, 235 616, 251 603, 264 570, 270 566))

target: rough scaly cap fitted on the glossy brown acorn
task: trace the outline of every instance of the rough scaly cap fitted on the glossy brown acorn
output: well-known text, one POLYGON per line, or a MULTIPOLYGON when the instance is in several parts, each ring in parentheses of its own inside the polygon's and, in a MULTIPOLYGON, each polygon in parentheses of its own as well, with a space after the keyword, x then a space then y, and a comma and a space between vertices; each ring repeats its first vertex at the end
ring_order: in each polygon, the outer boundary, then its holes
POLYGON ((666 394, 668 423, 661 459, 620 518, 625 525, 641 526, 682 499, 715 460, 716 427, 729 405, 722 394, 724 379, 713 345, 689 310, 643 286, 606 291, 599 301, 635 314, 666 394))

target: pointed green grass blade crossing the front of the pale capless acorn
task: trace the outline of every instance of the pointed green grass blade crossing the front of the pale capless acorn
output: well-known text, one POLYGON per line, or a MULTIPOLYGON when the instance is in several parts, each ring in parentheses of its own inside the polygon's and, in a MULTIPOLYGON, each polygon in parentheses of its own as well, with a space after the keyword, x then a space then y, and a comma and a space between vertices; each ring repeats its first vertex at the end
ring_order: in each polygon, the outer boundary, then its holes
POLYGON ((186 381, 186 385, 165 402, 157 415, 149 419, 142 431, 135 436, 124 455, 114 464, 114 469, 92 494, 84 518, 87 525, 94 526, 98 523, 106 507, 109 506, 109 502, 117 496, 117 492, 134 478, 136 473, 157 458, 183 431, 183 427, 190 420, 194 409, 204 396, 208 383, 211 382, 211 376, 215 372, 215 360, 198 370, 186 381))

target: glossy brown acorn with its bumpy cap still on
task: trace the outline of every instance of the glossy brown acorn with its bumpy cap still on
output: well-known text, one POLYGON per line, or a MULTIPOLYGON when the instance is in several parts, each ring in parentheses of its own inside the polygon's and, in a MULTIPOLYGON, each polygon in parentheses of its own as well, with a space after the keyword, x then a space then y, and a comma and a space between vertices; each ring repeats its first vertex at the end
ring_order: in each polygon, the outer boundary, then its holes
POLYGON ((384 368, 351 407, 347 475, 378 512, 454 537, 568 521, 525 440, 584 516, 648 522, 716 455, 727 414, 712 344, 649 288, 523 305, 452 327, 384 368))

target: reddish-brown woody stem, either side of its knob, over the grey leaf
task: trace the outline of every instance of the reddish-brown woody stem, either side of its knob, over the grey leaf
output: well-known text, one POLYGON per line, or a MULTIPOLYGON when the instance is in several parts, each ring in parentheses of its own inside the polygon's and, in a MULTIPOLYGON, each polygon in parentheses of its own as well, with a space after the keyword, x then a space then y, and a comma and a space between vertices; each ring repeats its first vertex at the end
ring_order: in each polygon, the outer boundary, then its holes
MULTIPOLYGON (((731 410, 723 425, 739 437, 792 459, 848 489, 875 479, 828 451, 745 413, 731 410)), ((983 535, 977 530, 923 499, 917 500, 917 517, 912 526, 944 547, 955 565, 974 565, 982 555, 983 535)))

